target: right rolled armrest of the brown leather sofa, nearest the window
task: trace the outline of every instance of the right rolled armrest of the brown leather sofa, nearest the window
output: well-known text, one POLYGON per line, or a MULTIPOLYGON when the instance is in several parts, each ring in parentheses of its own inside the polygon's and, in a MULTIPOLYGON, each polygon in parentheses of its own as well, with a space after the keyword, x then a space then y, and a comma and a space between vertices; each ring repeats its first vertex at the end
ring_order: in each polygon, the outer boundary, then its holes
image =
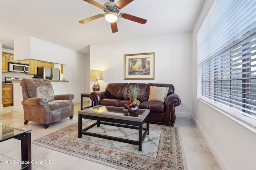
POLYGON ((175 108, 181 103, 180 96, 176 93, 171 93, 167 96, 165 101, 164 122, 173 125, 175 123, 176 115, 175 108))

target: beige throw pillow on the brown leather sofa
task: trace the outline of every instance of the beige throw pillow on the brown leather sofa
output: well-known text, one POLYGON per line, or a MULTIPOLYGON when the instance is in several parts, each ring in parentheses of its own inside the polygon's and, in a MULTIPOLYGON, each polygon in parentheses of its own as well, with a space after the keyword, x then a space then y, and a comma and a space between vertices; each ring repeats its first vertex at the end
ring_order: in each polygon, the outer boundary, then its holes
POLYGON ((168 94, 168 90, 168 87, 150 86, 148 101, 159 101, 164 103, 168 94))

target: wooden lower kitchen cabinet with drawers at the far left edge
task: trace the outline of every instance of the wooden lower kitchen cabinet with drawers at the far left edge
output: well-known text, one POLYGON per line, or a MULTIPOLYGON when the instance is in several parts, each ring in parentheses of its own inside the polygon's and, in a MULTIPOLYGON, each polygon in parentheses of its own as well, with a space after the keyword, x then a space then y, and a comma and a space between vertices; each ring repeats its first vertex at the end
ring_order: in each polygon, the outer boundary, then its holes
POLYGON ((13 85, 2 84, 2 104, 3 107, 13 105, 13 85))

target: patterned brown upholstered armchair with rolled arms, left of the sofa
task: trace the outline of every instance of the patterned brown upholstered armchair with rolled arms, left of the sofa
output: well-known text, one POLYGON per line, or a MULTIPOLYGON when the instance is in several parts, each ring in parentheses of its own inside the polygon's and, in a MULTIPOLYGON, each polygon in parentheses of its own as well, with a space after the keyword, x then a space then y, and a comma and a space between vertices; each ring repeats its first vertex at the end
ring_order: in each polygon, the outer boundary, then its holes
POLYGON ((47 129, 50 123, 74 115, 74 95, 54 95, 52 83, 48 79, 22 79, 20 82, 23 95, 24 124, 34 121, 44 124, 47 129))

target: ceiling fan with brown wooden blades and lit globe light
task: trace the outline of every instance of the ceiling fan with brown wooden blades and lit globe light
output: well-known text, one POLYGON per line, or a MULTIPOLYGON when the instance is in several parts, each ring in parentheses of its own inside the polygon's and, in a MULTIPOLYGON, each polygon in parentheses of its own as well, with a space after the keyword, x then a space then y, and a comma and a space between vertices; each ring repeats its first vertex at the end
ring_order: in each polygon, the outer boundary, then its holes
POLYGON ((119 0, 117 3, 114 3, 115 0, 109 0, 109 2, 106 2, 104 5, 94 0, 84 0, 84 1, 102 9, 105 12, 105 14, 98 14, 96 16, 86 18, 84 20, 79 21, 80 23, 87 23, 87 22, 96 20, 98 18, 104 17, 106 21, 110 22, 112 33, 116 33, 118 31, 117 23, 116 23, 116 21, 118 20, 118 17, 124 18, 126 20, 130 20, 130 21, 138 22, 141 24, 145 24, 147 22, 147 20, 143 18, 132 16, 130 14, 125 14, 125 13, 118 14, 120 9, 124 8, 133 0, 119 0))

